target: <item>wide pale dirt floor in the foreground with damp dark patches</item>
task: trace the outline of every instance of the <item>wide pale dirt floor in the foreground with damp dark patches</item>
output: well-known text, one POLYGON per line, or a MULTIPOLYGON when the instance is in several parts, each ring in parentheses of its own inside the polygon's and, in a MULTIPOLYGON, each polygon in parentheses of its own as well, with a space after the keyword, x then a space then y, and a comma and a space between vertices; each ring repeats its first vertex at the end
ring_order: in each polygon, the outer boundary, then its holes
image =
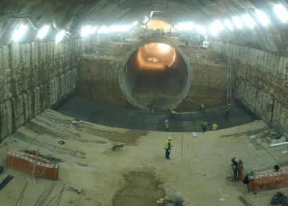
MULTIPOLYGON (((267 205, 278 191, 243 194, 241 182, 228 181, 232 157, 243 161, 244 170, 259 172, 287 165, 287 146, 256 150, 250 143, 252 134, 269 129, 262 121, 226 130, 197 133, 163 133, 108 128, 82 122, 71 125, 73 118, 46 110, 31 122, 21 126, 0 148, 0 165, 5 165, 7 150, 37 150, 43 155, 62 159, 59 180, 47 202, 65 185, 84 189, 77 194, 64 190, 59 205, 157 205, 159 198, 172 199, 180 192, 184 205, 243 205, 243 195, 254 205, 267 205), (172 137, 171 160, 165 159, 163 149, 167 137, 172 137), (58 144, 58 141, 65 144, 58 144), (112 144, 123 141, 128 146, 112 151, 112 144), (229 196, 220 201, 222 196, 229 196)), ((259 141, 259 139, 257 139, 259 141)), ((245 172, 244 171, 244 172, 245 172)), ((5 168, 0 181, 10 174, 14 179, 0 191, 1 205, 16 205, 28 176, 5 168)), ((34 205, 53 181, 37 179, 28 183, 22 205, 34 205)), ((57 205, 52 201, 49 205, 57 205)), ((167 204, 169 205, 169 203, 167 204)), ((171 204, 170 204, 171 205, 171 204)))

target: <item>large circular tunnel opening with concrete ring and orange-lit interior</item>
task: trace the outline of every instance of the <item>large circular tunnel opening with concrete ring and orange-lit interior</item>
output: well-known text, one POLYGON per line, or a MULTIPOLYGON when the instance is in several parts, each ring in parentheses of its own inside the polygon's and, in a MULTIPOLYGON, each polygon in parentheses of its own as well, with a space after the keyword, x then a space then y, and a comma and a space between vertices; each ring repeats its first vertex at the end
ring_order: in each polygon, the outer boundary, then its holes
POLYGON ((135 45, 121 67, 121 89, 137 108, 176 108, 186 97, 190 84, 187 57, 166 38, 147 38, 135 45))

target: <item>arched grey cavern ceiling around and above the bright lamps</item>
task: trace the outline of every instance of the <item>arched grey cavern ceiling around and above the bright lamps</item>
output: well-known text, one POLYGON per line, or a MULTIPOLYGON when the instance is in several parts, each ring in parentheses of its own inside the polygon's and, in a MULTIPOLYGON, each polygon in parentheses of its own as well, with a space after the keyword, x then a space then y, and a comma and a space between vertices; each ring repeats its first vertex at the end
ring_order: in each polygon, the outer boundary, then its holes
MULTIPOLYGON (((208 25, 215 19, 228 18, 237 14, 245 14, 255 8, 264 11, 276 4, 286 5, 287 1, 283 0, 70 0, 70 1, 43 1, 43 0, 3 0, 0 1, 0 17, 5 16, 5 21, 0 21, 0 45, 11 43, 10 36, 15 28, 25 23, 29 25, 27 19, 8 18, 8 14, 27 14, 34 25, 41 26, 40 23, 47 23, 53 19, 53 25, 58 30, 71 30, 79 26, 81 21, 97 21, 99 24, 117 24, 132 23, 136 18, 143 19, 153 13, 153 19, 166 19, 167 22, 178 23, 181 21, 193 21, 200 25, 208 25), (42 18, 45 16, 45 18, 42 18), (39 23, 39 25, 37 25, 39 23)), ((287 5, 286 5, 287 6, 287 5)), ((14 16, 15 17, 15 16, 14 16)), ((3 20, 3 19, 2 19, 3 20)), ((30 26, 30 25, 29 25, 30 26)), ((284 25, 287 30, 287 25, 284 25)), ((274 30, 275 27, 269 28, 274 30)), ((250 45, 265 50, 259 43, 251 43, 247 36, 253 35, 253 32, 265 32, 268 38, 277 38, 278 41, 286 39, 283 33, 283 25, 276 32, 278 36, 270 35, 270 32, 260 28, 247 31, 221 32, 217 40, 230 41, 238 45, 250 45), (260 31, 259 31, 260 30, 260 31), (245 33, 245 34, 244 34, 245 33), (280 35, 280 36, 279 36, 280 35)), ((287 33, 287 32, 285 32, 287 33)), ((57 31, 54 30, 49 36, 55 36, 57 31)), ((30 26, 25 36, 25 42, 35 41, 36 32, 30 26)), ((265 35, 264 35, 265 36, 265 35)), ((261 37, 261 36, 260 36, 261 37)), ((257 37, 255 37, 257 38, 257 37)), ((263 37, 261 37, 263 38, 263 37)), ((281 49, 283 44, 275 41, 281 49)), ((52 38, 45 38, 44 41, 53 41, 52 38)), ((265 41, 265 40, 263 40, 265 41)), ((278 50, 278 49, 272 49, 278 50)), ((278 52, 278 51, 272 51, 278 52)), ((284 54, 285 52, 283 52, 284 54)))

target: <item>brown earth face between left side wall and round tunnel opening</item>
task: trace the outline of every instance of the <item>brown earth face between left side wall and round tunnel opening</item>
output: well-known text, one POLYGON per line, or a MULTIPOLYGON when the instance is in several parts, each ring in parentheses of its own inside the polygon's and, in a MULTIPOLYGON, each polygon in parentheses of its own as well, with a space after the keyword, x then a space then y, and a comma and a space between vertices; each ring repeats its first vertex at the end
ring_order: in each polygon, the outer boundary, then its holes
POLYGON ((133 107, 123 95, 119 72, 123 60, 82 57, 79 61, 77 95, 104 104, 133 107))

